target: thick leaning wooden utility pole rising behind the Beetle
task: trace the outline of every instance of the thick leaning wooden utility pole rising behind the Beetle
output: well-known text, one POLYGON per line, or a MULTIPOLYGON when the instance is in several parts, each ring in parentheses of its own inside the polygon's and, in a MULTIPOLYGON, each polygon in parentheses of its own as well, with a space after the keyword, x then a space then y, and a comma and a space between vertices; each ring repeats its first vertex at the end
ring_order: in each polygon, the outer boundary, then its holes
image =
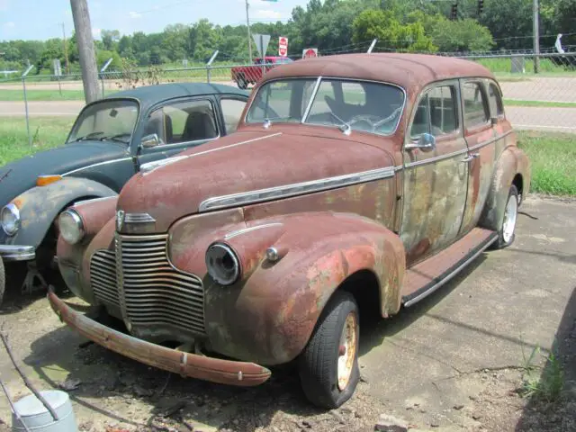
POLYGON ((82 84, 84 85, 84 97, 86 103, 98 99, 98 69, 96 68, 96 56, 94 54, 94 39, 92 38, 92 26, 86 0, 70 0, 74 28, 80 54, 80 67, 82 68, 82 84))

